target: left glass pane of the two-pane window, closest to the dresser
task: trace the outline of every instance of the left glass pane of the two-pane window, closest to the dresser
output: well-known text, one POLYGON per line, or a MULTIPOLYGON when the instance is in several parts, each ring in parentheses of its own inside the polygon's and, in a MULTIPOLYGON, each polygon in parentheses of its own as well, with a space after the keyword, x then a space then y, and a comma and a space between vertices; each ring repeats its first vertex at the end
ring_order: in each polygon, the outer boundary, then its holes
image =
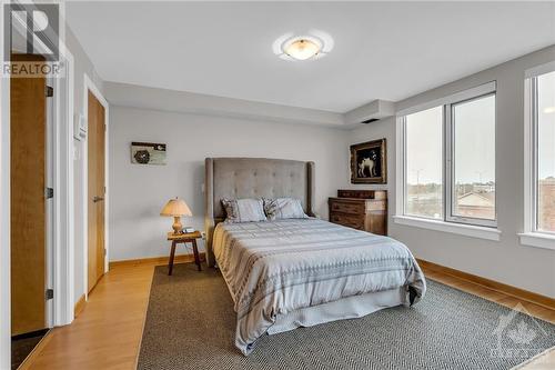
POLYGON ((443 219, 443 107, 406 116, 405 213, 443 219))

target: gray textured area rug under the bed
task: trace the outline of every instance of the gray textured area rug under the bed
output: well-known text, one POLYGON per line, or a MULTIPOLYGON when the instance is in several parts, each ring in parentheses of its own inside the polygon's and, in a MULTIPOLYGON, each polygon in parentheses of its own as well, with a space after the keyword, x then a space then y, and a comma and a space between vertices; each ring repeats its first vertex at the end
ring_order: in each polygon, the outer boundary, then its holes
POLYGON ((158 267, 139 369, 511 369, 555 346, 555 326, 428 280, 413 308, 392 308, 261 338, 244 357, 214 269, 158 267))

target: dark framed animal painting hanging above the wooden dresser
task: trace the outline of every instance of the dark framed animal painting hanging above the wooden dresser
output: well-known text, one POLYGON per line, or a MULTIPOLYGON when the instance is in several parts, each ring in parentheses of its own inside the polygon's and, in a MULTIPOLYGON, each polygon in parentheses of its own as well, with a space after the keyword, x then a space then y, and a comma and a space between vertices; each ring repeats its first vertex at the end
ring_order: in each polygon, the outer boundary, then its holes
POLYGON ((351 146, 351 183, 387 183, 385 139, 351 146))

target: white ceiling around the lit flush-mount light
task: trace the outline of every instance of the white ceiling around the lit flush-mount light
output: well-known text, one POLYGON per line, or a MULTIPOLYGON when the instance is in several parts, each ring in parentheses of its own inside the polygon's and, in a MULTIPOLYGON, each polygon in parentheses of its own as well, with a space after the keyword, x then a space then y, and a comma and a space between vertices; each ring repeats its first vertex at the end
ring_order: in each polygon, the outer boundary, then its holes
POLYGON ((69 2, 108 81, 345 112, 398 101, 555 43, 555 2, 69 2), (327 32, 284 61, 280 36, 327 32))

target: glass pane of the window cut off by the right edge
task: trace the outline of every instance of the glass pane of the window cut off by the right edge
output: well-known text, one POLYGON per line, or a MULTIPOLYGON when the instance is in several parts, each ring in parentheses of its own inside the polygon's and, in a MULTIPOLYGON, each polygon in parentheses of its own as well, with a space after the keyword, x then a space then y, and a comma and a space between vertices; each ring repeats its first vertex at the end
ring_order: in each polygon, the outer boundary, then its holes
POLYGON ((537 229, 555 232, 555 72, 537 77, 537 229))

